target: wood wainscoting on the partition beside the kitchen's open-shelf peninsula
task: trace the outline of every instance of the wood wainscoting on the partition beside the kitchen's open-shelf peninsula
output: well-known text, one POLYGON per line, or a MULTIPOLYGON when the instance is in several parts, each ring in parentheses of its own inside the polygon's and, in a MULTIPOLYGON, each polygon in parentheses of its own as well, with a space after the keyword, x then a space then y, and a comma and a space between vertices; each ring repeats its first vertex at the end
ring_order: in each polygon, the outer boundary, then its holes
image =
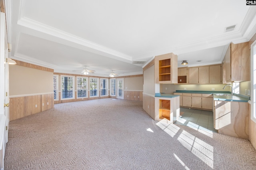
POLYGON ((155 97, 143 93, 143 109, 152 119, 155 119, 155 97))

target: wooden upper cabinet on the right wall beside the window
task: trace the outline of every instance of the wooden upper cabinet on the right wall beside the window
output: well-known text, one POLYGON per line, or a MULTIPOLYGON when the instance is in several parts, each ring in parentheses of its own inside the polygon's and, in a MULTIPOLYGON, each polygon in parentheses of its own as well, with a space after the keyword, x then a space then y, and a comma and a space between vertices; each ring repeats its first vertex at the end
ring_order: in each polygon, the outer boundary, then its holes
POLYGON ((223 82, 250 81, 249 42, 231 43, 223 59, 223 82))

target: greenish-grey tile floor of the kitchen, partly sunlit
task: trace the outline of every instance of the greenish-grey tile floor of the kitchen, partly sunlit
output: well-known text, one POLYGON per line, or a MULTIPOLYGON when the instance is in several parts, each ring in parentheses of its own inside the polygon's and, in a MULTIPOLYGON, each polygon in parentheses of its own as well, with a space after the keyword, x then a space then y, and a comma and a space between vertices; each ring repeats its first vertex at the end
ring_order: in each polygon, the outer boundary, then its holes
POLYGON ((196 124, 200 127, 206 128, 213 132, 218 132, 216 129, 214 129, 212 111, 203 111, 203 110, 188 109, 188 108, 180 107, 180 112, 184 112, 184 113, 180 116, 180 118, 174 124, 185 125, 185 126, 196 124))

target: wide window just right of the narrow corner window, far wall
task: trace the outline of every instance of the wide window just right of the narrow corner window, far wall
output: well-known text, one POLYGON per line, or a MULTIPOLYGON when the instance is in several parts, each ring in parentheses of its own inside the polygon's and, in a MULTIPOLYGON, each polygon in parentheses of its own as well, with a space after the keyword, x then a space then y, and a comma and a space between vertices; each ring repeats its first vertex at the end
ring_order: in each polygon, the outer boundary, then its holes
POLYGON ((74 99, 74 76, 61 76, 61 99, 74 99))

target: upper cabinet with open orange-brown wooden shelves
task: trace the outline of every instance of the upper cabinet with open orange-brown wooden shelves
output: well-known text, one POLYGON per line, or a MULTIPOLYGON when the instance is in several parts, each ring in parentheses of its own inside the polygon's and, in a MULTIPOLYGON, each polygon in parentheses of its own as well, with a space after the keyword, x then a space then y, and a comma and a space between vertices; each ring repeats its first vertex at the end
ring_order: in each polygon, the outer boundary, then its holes
POLYGON ((155 83, 178 83, 178 56, 174 53, 155 57, 155 83))

